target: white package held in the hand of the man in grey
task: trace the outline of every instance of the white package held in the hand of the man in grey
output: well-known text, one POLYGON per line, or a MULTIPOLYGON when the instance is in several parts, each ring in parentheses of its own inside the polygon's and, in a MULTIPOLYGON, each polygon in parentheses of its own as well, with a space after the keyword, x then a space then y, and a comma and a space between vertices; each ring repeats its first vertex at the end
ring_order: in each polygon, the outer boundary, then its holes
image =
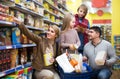
POLYGON ((107 53, 105 51, 97 52, 97 55, 95 58, 95 63, 97 65, 104 65, 105 60, 106 60, 106 55, 107 55, 107 53))

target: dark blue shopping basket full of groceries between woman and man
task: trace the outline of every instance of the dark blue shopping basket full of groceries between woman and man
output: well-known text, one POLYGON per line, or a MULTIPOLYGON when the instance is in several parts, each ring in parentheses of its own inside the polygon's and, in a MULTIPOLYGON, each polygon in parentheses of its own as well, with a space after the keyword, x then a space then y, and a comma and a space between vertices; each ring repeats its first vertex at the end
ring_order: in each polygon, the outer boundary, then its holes
POLYGON ((82 72, 82 73, 64 73, 62 68, 58 65, 57 70, 60 75, 60 79, 94 79, 94 76, 96 75, 97 72, 93 72, 92 69, 87 66, 87 71, 88 72, 82 72))

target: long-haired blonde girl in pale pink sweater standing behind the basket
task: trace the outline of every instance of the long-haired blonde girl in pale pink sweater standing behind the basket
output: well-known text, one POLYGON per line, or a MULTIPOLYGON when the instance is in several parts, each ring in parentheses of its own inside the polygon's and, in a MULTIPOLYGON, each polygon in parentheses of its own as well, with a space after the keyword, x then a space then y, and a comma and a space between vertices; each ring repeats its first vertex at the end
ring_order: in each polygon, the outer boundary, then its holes
POLYGON ((80 46, 80 40, 77 31, 74 29, 75 18, 72 14, 66 13, 63 18, 61 28, 60 45, 64 53, 68 49, 69 53, 74 53, 80 46))

